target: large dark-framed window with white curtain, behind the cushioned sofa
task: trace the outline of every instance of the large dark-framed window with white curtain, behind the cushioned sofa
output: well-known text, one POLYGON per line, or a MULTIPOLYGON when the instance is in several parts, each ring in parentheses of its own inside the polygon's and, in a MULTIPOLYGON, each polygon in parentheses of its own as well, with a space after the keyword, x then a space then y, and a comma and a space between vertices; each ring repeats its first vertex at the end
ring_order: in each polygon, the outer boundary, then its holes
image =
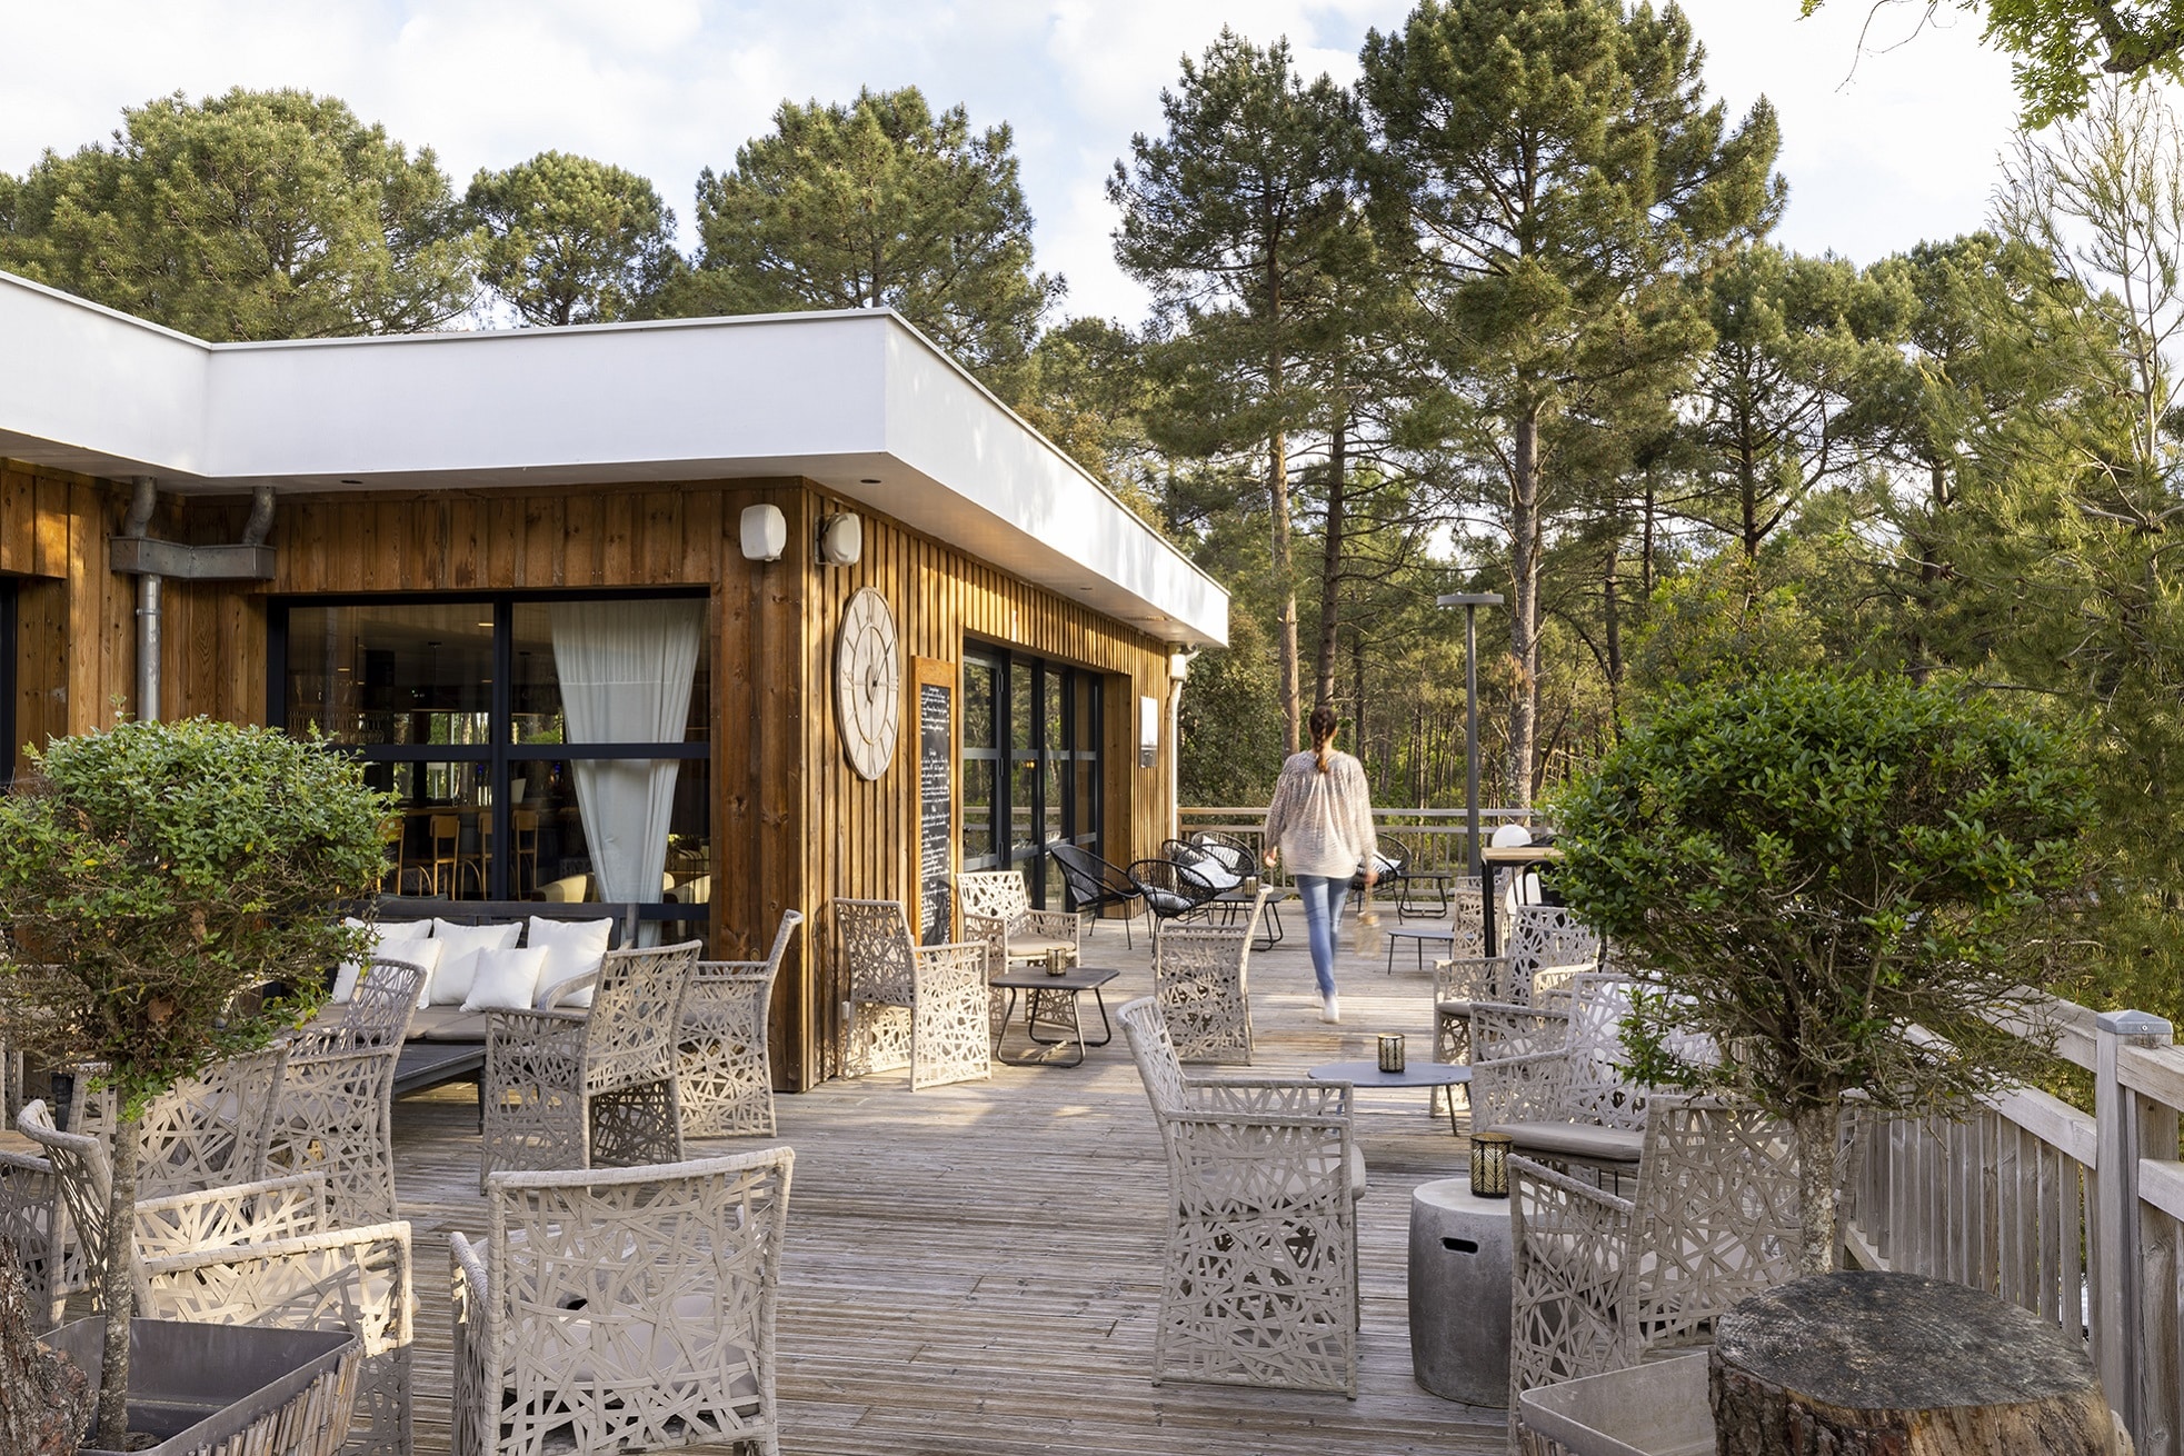
POLYGON ((304 598, 271 613, 280 727, 363 757, 389 893, 640 902, 703 932, 703 596, 304 598))

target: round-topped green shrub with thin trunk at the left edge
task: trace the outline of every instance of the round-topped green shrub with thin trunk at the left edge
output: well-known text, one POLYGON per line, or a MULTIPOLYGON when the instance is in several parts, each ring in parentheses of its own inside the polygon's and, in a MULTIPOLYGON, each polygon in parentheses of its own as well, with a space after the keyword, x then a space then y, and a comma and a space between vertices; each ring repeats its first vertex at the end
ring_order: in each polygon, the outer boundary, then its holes
MULTIPOLYGON (((133 1229, 144 1105, 299 1024, 325 967, 365 954, 334 910, 378 884, 387 801, 317 742, 207 718, 122 723, 31 760, 0 797, 0 1026, 52 1061, 107 1065, 109 1220, 133 1229), (260 1004, 269 982, 286 991, 260 1004)), ((124 1449, 127 1257, 98 1279, 96 1443, 124 1449)))

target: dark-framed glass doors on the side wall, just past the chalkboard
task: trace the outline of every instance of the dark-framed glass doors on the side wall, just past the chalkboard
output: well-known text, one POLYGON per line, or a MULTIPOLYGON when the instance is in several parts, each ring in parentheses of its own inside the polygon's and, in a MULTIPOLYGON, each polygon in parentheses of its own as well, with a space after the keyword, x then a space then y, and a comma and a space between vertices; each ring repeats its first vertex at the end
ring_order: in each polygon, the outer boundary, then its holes
POLYGON ((963 869, 1022 869, 1059 906, 1046 845, 1101 851, 1101 679, 998 651, 963 655, 963 869))

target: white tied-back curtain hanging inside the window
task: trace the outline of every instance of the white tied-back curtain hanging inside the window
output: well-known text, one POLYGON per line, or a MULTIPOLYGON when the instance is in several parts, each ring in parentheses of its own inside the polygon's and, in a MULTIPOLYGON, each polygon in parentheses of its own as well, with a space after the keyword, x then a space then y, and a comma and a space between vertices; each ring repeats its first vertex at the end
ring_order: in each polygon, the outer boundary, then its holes
MULTIPOLYGON (((681 742, 705 602, 555 602, 553 666, 570 742, 681 742)), ((673 757, 572 760, 601 899, 660 902, 673 757)))

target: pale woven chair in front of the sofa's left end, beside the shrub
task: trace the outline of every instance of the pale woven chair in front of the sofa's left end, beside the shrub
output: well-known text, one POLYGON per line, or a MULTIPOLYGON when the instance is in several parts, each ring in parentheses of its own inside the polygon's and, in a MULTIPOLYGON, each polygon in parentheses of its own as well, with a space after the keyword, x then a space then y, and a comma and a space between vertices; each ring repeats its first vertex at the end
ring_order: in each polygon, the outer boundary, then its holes
POLYGON ((269 1163, 323 1172, 336 1225, 397 1218, 395 1063, 422 982, 419 965, 373 960, 347 1004, 332 1009, 345 1015, 312 1022, 288 1039, 269 1163))

